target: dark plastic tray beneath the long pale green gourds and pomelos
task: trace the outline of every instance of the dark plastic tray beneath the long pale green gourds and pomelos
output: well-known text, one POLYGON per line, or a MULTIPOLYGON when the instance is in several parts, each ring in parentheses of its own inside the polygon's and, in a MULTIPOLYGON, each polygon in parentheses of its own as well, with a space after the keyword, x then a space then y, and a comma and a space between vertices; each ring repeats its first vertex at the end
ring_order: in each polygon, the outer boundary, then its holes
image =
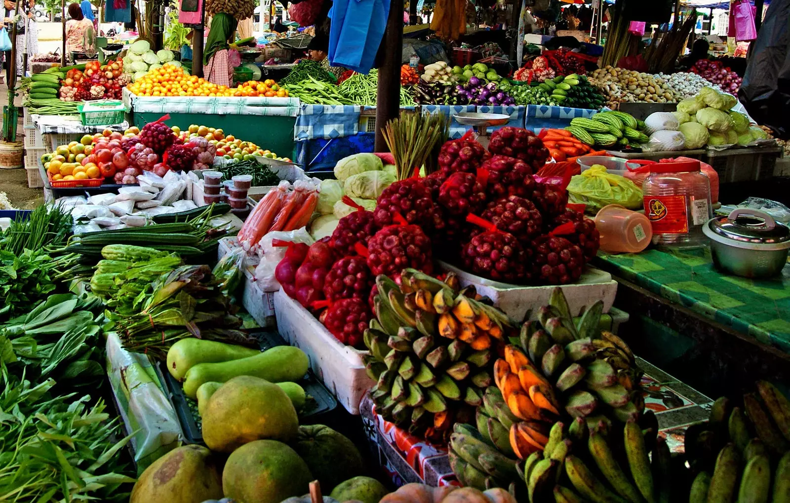
MULTIPOLYGON (((252 335, 258 339, 261 351, 287 344, 277 332, 258 332, 252 335)), ((160 362, 155 368, 156 373, 160 374, 160 380, 167 388, 167 397, 181 423, 184 440, 188 444, 202 444, 203 432, 199 422, 198 403, 184 395, 182 385, 167 371, 164 362, 160 362)), ((308 400, 305 408, 299 411, 299 424, 310 425, 325 422, 322 418, 337 408, 335 397, 316 379, 312 370, 307 370, 307 374, 303 379, 297 381, 297 384, 302 386, 307 395, 313 399, 308 400)))

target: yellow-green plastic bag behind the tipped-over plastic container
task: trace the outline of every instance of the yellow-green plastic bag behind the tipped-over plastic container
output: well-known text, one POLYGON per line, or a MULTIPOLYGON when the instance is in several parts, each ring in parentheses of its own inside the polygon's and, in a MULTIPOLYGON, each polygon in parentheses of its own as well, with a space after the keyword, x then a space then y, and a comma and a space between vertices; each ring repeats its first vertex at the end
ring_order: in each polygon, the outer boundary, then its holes
POLYGON ((570 178, 568 202, 583 204, 588 212, 597 212, 606 205, 623 205, 628 209, 643 206, 641 189, 634 182, 608 173, 600 164, 570 178))

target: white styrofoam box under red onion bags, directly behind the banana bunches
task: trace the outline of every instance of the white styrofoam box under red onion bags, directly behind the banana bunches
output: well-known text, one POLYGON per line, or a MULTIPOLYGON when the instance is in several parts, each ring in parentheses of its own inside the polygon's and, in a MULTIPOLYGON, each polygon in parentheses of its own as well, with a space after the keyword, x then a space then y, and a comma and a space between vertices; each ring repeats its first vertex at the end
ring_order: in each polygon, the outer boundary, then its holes
MULTIPOLYGON (((439 265, 446 271, 455 272, 461 280, 461 285, 465 287, 474 285, 478 294, 491 298, 495 306, 517 321, 523 320, 528 311, 531 311, 531 319, 537 319, 538 310, 548 304, 551 291, 556 287, 553 285, 522 287, 498 283, 462 271, 442 261, 439 261, 439 265)), ((588 265, 576 283, 561 285, 560 288, 574 316, 577 316, 583 307, 590 306, 596 300, 604 302, 604 313, 608 313, 615 302, 617 282, 611 279, 611 274, 608 272, 588 265)))

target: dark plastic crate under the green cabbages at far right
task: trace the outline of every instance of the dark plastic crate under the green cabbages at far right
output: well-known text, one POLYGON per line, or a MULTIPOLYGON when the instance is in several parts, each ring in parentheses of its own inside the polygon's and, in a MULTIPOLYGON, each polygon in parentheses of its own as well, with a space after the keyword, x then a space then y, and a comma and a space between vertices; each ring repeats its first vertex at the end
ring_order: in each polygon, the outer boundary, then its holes
POLYGON ((750 182, 773 177, 781 147, 728 148, 708 151, 708 163, 719 174, 719 183, 750 182))

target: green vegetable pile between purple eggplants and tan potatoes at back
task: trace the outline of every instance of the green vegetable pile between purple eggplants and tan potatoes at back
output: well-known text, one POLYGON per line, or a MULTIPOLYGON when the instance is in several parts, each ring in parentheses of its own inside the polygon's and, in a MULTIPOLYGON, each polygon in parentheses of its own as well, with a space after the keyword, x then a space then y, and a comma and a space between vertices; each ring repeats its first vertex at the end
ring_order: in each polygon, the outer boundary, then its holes
POLYGON ((550 105, 559 107, 598 109, 604 105, 604 96, 589 84, 587 77, 571 73, 531 84, 500 84, 510 92, 518 105, 550 105))

